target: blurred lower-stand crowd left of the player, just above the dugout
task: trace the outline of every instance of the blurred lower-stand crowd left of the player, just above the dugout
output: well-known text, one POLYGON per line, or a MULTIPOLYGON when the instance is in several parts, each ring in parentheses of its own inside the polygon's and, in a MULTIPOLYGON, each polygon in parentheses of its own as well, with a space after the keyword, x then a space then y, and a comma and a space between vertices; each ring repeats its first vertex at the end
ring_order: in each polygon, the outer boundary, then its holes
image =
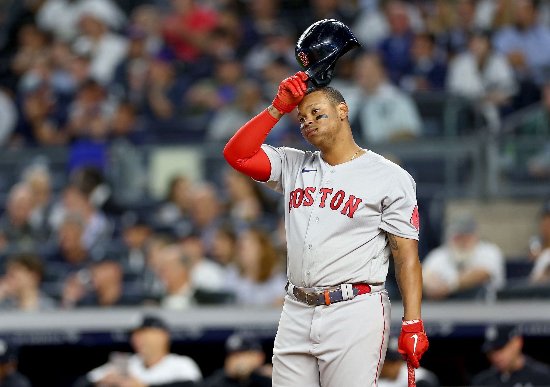
POLYGON ((178 176, 142 211, 117 207, 94 168, 58 197, 47 170, 25 176, 0 217, 0 308, 282 303, 284 229, 265 212, 277 203, 245 175, 227 169, 226 200, 178 176))

